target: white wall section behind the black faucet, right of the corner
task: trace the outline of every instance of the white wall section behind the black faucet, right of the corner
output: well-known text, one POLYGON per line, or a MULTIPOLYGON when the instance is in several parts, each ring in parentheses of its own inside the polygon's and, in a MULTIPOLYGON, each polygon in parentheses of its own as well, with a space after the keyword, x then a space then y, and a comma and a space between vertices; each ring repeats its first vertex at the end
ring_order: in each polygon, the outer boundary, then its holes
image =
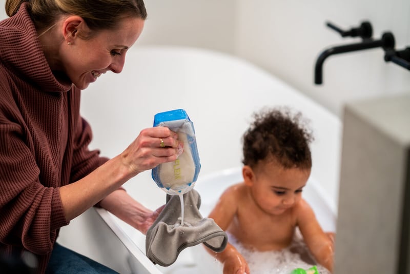
POLYGON ((395 35, 397 49, 410 46, 408 0, 247 0, 238 2, 235 52, 276 74, 341 116, 343 103, 380 94, 410 92, 410 71, 384 62, 382 49, 330 56, 323 85, 313 84, 319 53, 330 46, 360 42, 325 27, 350 29, 368 20, 373 37, 395 35))

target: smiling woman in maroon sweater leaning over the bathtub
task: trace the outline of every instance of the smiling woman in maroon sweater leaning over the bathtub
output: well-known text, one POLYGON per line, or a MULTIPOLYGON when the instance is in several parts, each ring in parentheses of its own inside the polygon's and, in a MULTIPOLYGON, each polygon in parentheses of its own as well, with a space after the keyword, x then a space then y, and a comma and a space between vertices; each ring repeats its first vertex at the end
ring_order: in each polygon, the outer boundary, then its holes
POLYGON ((80 90, 107 71, 121 72, 147 17, 142 0, 6 0, 6 12, 10 18, 0 22, 0 252, 28 250, 39 273, 54 272, 65 263, 58 255, 69 252, 55 243, 59 228, 94 205, 148 230, 160 209, 145 208, 121 185, 176 160, 182 143, 157 127, 142 130, 113 159, 88 150, 92 134, 79 114, 80 90))

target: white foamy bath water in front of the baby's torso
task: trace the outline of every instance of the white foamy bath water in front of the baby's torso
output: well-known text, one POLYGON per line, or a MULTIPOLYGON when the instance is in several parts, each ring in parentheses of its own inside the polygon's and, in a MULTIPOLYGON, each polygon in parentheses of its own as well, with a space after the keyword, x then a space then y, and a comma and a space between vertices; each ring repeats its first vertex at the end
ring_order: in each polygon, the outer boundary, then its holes
POLYGON ((289 274, 296 268, 308 269, 317 266, 320 274, 331 274, 325 267, 315 263, 299 229, 295 231, 292 244, 280 251, 257 251, 245 248, 232 234, 229 242, 247 260, 252 274, 289 274))

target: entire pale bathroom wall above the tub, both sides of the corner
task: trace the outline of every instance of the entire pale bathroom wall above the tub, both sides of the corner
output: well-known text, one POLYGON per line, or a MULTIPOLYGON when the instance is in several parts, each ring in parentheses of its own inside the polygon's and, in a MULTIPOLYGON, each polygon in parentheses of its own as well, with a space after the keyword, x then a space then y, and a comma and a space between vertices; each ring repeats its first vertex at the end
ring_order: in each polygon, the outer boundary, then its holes
POLYGON ((410 71, 385 63, 382 49, 329 57, 323 85, 313 84, 316 57, 327 47, 360 42, 325 26, 342 29, 373 25, 396 37, 396 48, 410 46, 407 0, 226 0, 146 1, 149 18, 138 43, 203 47, 243 57, 279 76, 342 116, 346 101, 410 92, 410 71))

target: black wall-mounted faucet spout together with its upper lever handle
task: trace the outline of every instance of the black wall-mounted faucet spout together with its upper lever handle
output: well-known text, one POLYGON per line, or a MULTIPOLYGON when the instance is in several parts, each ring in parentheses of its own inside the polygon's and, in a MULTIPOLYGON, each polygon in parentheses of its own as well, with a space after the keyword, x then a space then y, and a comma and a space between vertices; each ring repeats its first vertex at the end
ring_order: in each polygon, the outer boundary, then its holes
MULTIPOLYGON (((393 34, 391 32, 384 32, 380 40, 373 40, 372 38, 373 28, 369 22, 365 21, 361 23, 360 27, 352 28, 349 31, 343 31, 340 28, 333 25, 332 23, 327 23, 326 25, 332 28, 333 30, 336 30, 337 32, 339 32, 342 35, 342 37, 360 36, 362 38, 362 42, 350 44, 350 45, 335 46, 335 47, 331 47, 331 48, 328 48, 322 51, 319 54, 316 60, 316 65, 315 65, 315 84, 317 85, 320 85, 323 83, 323 63, 326 60, 326 58, 331 55, 344 53, 344 52, 352 52, 352 51, 357 51, 357 50, 378 48, 378 47, 383 48, 386 52, 392 52, 392 50, 394 50, 395 39, 394 39, 393 34)), ((395 54, 396 53, 397 52, 395 52, 395 54)), ((388 58, 392 58, 392 59, 386 60, 386 61, 393 61, 395 54, 392 53, 391 55, 389 55, 388 58)))

